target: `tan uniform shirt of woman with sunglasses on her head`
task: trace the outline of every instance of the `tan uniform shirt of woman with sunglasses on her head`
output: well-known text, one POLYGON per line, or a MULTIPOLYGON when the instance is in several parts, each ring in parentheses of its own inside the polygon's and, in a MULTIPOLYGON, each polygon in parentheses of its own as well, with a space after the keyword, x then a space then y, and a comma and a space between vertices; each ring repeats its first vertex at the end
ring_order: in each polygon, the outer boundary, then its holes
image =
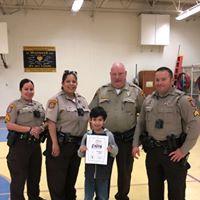
POLYGON ((56 123, 57 131, 83 136, 87 131, 89 111, 84 97, 76 94, 75 98, 71 99, 61 91, 48 101, 46 118, 56 123), (83 110, 83 116, 78 115, 79 108, 83 110))

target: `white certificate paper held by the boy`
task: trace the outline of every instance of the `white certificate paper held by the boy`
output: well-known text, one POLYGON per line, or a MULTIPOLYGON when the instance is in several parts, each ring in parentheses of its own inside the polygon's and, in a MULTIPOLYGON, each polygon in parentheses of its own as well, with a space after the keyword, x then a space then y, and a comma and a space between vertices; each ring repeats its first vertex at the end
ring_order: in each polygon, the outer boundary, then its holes
POLYGON ((107 165, 108 136, 87 135, 86 146, 85 162, 87 164, 107 165))

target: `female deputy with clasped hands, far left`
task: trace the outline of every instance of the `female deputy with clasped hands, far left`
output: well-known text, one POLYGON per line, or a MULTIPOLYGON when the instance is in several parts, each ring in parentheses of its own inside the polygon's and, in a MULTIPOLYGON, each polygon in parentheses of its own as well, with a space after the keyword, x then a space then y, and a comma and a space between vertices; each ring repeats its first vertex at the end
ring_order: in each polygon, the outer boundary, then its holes
POLYGON ((11 175, 11 199, 25 200, 23 192, 27 181, 29 200, 40 200, 40 136, 44 131, 45 111, 42 104, 33 100, 34 84, 31 80, 21 80, 19 89, 21 98, 8 106, 5 119, 9 131, 7 164, 11 175))

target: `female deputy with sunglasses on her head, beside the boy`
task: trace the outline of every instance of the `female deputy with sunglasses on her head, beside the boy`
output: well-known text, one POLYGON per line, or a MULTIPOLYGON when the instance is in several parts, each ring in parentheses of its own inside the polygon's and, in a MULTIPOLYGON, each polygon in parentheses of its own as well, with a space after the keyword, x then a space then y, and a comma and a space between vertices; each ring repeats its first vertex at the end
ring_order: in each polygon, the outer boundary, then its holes
POLYGON ((47 139, 47 182, 52 200, 76 199, 75 183, 80 158, 81 138, 87 130, 89 108, 77 94, 77 73, 65 70, 62 90, 48 101, 46 118, 50 138, 47 139))

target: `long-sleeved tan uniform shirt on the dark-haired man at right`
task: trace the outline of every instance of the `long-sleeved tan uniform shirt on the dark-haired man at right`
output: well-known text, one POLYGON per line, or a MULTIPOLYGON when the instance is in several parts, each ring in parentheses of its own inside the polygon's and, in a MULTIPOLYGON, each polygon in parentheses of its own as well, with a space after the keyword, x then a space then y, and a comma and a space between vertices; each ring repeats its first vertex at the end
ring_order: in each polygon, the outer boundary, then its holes
POLYGON ((181 150, 188 153, 197 141, 199 128, 199 111, 191 97, 175 88, 172 88, 164 97, 154 92, 143 103, 133 147, 139 145, 139 135, 144 131, 160 141, 166 140, 168 135, 174 134, 179 137, 182 132, 185 132, 187 137, 181 150), (162 128, 155 126, 159 119, 163 121, 162 128))

